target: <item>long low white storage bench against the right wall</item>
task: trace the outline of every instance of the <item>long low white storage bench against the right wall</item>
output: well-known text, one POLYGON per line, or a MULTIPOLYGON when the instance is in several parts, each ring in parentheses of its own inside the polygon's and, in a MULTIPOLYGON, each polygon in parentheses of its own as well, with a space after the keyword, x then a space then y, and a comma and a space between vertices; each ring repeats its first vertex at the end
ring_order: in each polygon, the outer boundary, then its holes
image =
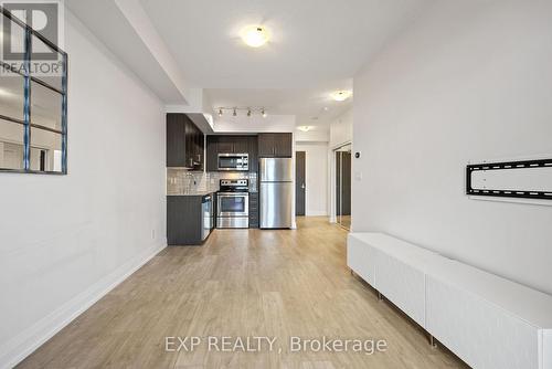
POLYGON ((382 233, 349 267, 474 368, 552 369, 552 296, 382 233))

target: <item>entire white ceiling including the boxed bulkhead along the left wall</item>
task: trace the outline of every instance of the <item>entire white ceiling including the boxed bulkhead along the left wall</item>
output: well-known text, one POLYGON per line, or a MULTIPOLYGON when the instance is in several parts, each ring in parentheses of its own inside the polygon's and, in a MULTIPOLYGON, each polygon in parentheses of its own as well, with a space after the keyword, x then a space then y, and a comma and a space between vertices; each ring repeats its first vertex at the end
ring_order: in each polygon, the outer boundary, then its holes
POLYGON ((297 125, 322 128, 352 104, 333 102, 329 93, 352 89, 354 74, 433 1, 67 2, 168 105, 180 104, 181 95, 190 105, 187 94, 201 88, 211 109, 204 113, 264 106, 268 114, 295 115, 297 125), (118 18, 106 21, 106 14, 118 18), (269 30, 266 45, 252 49, 240 39, 251 24, 269 30), (144 55, 148 52, 152 60, 144 55))

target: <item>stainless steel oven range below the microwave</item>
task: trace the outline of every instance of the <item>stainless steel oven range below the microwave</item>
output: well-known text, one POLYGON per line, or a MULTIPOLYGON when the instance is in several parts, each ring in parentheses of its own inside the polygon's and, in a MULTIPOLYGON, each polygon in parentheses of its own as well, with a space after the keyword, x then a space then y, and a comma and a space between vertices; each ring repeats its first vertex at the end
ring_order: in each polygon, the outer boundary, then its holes
POLYGON ((250 180, 221 179, 216 228, 250 228, 250 180))

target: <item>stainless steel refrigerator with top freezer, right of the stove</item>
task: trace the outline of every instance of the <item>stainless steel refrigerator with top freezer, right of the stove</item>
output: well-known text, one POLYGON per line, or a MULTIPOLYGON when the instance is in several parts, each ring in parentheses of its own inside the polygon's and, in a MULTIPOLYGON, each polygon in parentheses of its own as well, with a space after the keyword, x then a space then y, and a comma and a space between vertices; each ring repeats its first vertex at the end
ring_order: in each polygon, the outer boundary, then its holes
POLYGON ((262 158, 259 164, 261 228, 291 228, 293 159, 262 158))

